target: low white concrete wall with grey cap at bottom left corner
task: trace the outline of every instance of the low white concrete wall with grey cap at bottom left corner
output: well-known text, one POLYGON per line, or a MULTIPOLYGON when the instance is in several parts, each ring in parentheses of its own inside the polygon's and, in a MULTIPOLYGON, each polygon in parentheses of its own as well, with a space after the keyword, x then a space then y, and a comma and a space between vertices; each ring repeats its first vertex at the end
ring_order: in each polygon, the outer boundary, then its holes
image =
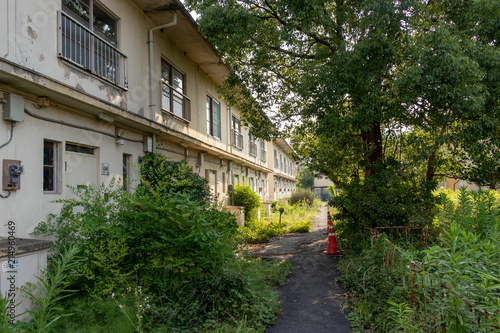
POLYGON ((51 241, 19 238, 13 236, 0 239, 0 293, 9 299, 8 316, 15 321, 29 319, 28 314, 16 317, 33 309, 31 300, 24 297, 19 288, 27 283, 36 284, 37 276, 47 267, 47 251, 51 241), (19 304, 20 303, 20 304, 19 304), (17 306, 15 306, 18 304, 17 306))

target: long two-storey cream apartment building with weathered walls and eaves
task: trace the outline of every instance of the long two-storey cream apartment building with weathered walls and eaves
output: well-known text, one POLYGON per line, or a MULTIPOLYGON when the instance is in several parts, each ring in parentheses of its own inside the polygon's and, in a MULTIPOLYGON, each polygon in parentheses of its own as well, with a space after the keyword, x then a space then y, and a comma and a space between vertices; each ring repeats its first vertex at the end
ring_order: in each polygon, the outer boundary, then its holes
POLYGON ((253 137, 217 93, 229 70, 178 0, 3 1, 0 235, 14 221, 29 238, 68 186, 137 179, 149 152, 186 159, 222 202, 234 184, 291 194, 286 141, 253 137))

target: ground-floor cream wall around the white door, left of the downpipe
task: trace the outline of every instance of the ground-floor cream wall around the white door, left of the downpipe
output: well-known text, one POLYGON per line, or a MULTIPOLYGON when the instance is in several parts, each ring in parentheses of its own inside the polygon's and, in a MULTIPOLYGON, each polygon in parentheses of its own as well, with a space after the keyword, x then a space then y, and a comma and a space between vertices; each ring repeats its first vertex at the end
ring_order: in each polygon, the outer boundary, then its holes
MULTIPOLYGON (((76 111, 70 113, 67 109, 55 107, 38 110, 33 107, 33 100, 29 98, 26 96, 25 107, 33 114, 110 134, 115 132, 116 126, 89 119, 76 111)), ((0 106, 0 109, 2 108, 3 106, 0 106)), ((7 134, 10 134, 8 122, 0 122, 0 133, 3 143, 9 137, 7 134)), ((71 191, 65 185, 85 185, 85 183, 68 182, 72 173, 86 171, 81 169, 86 166, 82 164, 83 160, 78 154, 66 154, 67 143, 95 148, 95 170, 91 177, 95 180, 93 181, 95 185, 109 184, 113 177, 122 176, 123 154, 130 154, 131 162, 135 164, 138 162, 139 155, 143 154, 142 134, 127 129, 124 129, 124 137, 139 142, 125 141, 124 145, 117 145, 114 138, 106 135, 36 119, 25 114, 24 122, 16 124, 13 134, 12 141, 0 150, 0 159, 21 160, 22 165, 25 166, 25 172, 21 175, 21 189, 12 191, 9 198, 0 201, 0 220, 14 220, 18 224, 17 237, 29 237, 29 233, 39 221, 46 219, 48 213, 60 210, 61 204, 53 203, 53 201, 72 196, 71 191), (44 140, 53 141, 57 145, 58 188, 56 193, 45 194, 43 192, 44 140), (102 163, 109 165, 109 175, 102 175, 102 163)), ((133 168, 131 172, 130 178, 136 178, 133 175, 133 168)))

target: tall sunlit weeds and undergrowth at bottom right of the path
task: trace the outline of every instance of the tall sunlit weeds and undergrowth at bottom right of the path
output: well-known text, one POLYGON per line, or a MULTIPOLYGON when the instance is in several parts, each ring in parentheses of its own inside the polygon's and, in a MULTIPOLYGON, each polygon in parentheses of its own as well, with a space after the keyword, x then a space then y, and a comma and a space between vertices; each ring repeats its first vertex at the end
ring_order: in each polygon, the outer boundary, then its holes
POLYGON ((436 218, 443 228, 438 245, 400 253, 379 237, 361 255, 342 259, 341 281, 352 296, 357 330, 489 332, 500 323, 499 195, 443 193, 450 195, 443 194, 436 218), (414 272, 410 261, 419 263, 414 272))

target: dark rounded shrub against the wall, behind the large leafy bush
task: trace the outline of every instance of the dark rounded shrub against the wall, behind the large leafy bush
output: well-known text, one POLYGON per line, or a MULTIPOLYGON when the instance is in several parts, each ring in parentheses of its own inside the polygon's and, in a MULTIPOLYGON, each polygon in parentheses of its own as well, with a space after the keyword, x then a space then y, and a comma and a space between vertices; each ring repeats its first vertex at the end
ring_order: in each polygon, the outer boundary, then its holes
POLYGON ((208 181, 194 173, 186 160, 169 161, 161 154, 147 154, 140 160, 141 181, 137 191, 186 193, 192 200, 210 204, 212 194, 208 181))

